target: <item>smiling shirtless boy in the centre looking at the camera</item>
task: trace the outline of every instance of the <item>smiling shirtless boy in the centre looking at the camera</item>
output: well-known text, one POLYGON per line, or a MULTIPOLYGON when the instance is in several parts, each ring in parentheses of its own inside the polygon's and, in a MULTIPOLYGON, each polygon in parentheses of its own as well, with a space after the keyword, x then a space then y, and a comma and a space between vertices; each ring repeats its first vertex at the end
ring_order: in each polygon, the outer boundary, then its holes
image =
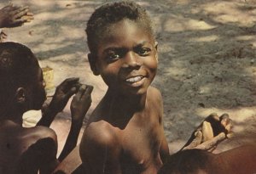
POLYGON ((136 3, 97 8, 86 28, 93 73, 108 91, 90 116, 80 143, 86 173, 157 173, 169 149, 160 92, 151 87, 157 42, 136 3))

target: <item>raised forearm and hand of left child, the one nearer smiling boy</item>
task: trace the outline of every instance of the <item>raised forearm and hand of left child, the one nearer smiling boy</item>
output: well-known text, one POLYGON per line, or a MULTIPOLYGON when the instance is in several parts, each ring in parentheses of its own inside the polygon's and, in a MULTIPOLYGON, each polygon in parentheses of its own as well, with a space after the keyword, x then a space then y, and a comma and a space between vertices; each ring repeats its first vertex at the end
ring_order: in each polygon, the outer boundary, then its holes
POLYGON ((61 154, 58 160, 63 160, 67 154, 69 154, 74 147, 77 145, 79 132, 81 126, 83 125, 84 116, 90 108, 91 104, 91 92, 93 87, 82 85, 79 88, 79 92, 74 96, 70 110, 72 115, 72 124, 70 131, 67 136, 67 141, 64 145, 64 148, 61 151, 61 154))

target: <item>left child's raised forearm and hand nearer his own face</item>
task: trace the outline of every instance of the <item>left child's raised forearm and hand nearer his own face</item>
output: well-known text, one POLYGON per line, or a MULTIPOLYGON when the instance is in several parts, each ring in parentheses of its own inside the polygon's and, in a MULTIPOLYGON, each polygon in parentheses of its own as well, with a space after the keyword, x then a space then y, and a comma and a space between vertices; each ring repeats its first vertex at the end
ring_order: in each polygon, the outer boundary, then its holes
POLYGON ((38 121, 37 126, 50 126, 55 119, 55 115, 61 112, 67 105, 67 101, 74 93, 77 93, 80 87, 79 78, 67 78, 56 87, 54 97, 49 106, 44 109, 42 119, 38 121))

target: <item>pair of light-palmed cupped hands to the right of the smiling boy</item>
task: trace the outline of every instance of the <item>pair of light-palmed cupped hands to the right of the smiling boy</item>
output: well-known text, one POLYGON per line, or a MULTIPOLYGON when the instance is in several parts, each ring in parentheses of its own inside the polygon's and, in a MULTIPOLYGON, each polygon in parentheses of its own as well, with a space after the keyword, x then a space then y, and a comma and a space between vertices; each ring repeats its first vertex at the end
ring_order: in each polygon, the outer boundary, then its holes
POLYGON ((206 149, 212 151, 225 138, 231 137, 232 121, 229 115, 218 117, 213 113, 192 133, 183 149, 206 149))

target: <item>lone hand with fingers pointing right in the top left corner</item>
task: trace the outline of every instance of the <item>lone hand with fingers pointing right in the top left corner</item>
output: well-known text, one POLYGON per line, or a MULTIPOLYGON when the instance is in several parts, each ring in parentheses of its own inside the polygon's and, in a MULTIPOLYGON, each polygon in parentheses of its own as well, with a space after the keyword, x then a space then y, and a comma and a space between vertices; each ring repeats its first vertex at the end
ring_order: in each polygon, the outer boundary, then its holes
POLYGON ((0 28, 16 27, 33 20, 28 7, 17 7, 10 4, 0 9, 0 28))

